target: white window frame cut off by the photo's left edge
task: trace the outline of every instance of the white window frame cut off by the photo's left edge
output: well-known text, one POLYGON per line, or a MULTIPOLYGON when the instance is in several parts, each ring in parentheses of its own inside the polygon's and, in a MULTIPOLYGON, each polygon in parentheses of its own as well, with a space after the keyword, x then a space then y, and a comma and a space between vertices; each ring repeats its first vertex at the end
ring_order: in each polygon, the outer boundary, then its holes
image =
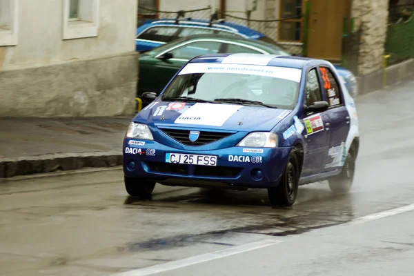
POLYGON ((2 1, 9 2, 10 10, 7 28, 0 28, 0 46, 16 46, 19 38, 19 0, 1 0, 0 3, 2 1))

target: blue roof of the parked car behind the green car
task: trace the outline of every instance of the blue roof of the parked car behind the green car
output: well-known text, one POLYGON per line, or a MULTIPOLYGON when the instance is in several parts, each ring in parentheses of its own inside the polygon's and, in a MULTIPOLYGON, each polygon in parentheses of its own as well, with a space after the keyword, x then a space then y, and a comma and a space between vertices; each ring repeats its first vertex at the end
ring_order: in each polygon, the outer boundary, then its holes
MULTIPOLYGON (((148 25, 152 26, 187 26, 187 27, 206 27, 210 26, 210 21, 204 19, 190 19, 190 20, 179 20, 178 23, 176 19, 148 19, 144 22, 142 26, 139 27, 141 30, 144 26, 148 28, 148 25)), ((257 32, 257 30, 253 30, 241 24, 232 23, 232 22, 220 22, 212 24, 213 28, 219 28, 222 30, 228 30, 231 32, 239 32, 240 34, 244 34, 250 38, 259 38, 264 37, 262 32, 257 32)))

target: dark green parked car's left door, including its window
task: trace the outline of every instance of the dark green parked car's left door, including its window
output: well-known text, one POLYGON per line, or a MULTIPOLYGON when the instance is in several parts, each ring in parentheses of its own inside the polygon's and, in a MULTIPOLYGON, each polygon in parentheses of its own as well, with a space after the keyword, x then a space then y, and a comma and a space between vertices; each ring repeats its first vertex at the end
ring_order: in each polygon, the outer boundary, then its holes
POLYGON ((153 92, 161 92, 166 86, 168 81, 174 77, 175 73, 182 67, 186 62, 193 57, 205 54, 216 54, 219 52, 221 42, 219 41, 191 41, 184 43, 179 46, 175 46, 170 50, 159 53, 156 58, 161 57, 166 52, 172 54, 172 58, 166 61, 158 59, 154 65, 154 86, 156 90, 153 92))

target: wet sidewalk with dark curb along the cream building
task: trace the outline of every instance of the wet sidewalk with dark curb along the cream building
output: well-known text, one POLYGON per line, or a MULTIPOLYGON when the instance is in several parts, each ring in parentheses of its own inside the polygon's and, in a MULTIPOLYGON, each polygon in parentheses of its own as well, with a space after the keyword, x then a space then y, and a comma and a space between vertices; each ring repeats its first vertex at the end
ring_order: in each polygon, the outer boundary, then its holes
POLYGON ((0 178, 122 164, 131 118, 0 119, 0 178))

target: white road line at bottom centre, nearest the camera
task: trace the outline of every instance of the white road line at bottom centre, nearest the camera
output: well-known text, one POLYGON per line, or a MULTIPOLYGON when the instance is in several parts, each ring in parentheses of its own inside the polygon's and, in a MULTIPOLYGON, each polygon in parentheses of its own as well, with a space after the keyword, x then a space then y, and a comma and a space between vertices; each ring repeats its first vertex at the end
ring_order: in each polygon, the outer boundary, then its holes
POLYGON ((272 246, 274 244, 279 244, 282 241, 275 239, 262 239, 258 242, 252 242, 249 244, 243 244, 241 246, 234 246, 224 250, 215 251, 213 253, 207 253, 203 255, 197 255, 194 257, 189 257, 186 259, 179 259, 177 261, 168 262, 166 264, 157 264, 155 266, 148 266, 146 268, 139 268, 136 270, 126 271, 124 273, 118 273, 117 276, 144 276, 144 275, 153 275, 155 273, 162 273, 168 270, 174 270, 177 268, 183 268, 186 266, 192 266, 194 264, 200 264, 203 262, 209 262, 213 259, 220 259, 228 257, 231 255, 236 255, 244 253, 247 251, 264 248, 266 246, 272 246))

